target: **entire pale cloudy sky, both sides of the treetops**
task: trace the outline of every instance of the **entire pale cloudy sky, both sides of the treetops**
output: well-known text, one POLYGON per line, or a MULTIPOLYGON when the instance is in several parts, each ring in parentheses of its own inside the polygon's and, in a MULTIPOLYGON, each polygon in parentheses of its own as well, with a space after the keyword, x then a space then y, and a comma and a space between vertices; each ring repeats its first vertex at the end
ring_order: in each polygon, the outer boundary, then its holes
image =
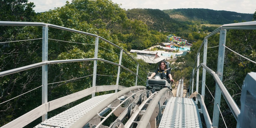
MULTIPOLYGON (((36 13, 45 12, 55 7, 62 7, 66 1, 72 0, 28 0, 34 2, 36 13)), ((256 0, 112 0, 121 8, 151 8, 151 9, 178 9, 178 8, 205 8, 225 10, 237 13, 253 14, 256 11, 256 0)))

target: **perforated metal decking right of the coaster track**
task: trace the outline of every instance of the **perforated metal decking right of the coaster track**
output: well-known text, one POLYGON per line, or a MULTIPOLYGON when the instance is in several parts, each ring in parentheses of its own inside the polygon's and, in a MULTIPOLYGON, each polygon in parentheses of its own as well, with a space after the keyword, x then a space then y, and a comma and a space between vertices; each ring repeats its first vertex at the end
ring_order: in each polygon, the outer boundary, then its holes
POLYGON ((171 97, 166 104, 161 128, 170 127, 202 127, 198 107, 193 99, 171 97))

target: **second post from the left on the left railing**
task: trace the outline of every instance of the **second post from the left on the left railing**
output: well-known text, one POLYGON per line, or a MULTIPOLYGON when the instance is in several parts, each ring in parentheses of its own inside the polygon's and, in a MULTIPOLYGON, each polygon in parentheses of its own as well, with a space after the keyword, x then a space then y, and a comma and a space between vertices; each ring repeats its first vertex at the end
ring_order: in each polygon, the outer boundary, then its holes
MULTIPOLYGON (((99 36, 97 36, 95 38, 94 58, 98 58, 98 47, 99 47, 99 36)), ((92 87, 96 86, 96 77, 97 77, 97 60, 94 60, 94 63, 93 63, 92 87)), ((93 97, 95 97, 95 92, 92 93, 92 98, 93 97)))

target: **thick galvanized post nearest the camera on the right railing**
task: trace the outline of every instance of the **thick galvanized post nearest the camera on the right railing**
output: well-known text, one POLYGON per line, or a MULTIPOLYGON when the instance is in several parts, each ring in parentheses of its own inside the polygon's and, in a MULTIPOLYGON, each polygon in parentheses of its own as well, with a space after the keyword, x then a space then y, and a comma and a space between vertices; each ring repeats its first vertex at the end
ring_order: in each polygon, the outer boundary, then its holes
MULTIPOLYGON (((226 45, 226 32, 227 32, 226 29, 221 28, 220 40, 219 40, 218 66, 217 66, 217 73, 218 73, 221 81, 222 81, 222 77, 223 77, 224 55, 225 55, 225 47, 223 45, 226 45)), ((219 112, 219 108, 217 105, 220 106, 220 98, 221 98, 221 91, 220 91, 219 86, 216 83, 213 120, 212 120, 213 127, 218 127, 218 125, 219 125, 220 112, 219 112)))

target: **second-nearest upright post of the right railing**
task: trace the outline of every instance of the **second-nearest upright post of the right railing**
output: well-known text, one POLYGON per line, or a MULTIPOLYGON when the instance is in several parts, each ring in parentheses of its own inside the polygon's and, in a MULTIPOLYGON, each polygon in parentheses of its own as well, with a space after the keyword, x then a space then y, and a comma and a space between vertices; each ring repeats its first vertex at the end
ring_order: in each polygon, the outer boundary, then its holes
MULTIPOLYGON (((204 54, 203 54, 203 63, 206 65, 207 61, 207 43, 208 39, 204 39, 204 54)), ((205 100, 205 77, 206 77, 206 69, 203 68, 203 74, 202 74, 202 92, 201 95, 203 97, 203 100, 205 100)))

